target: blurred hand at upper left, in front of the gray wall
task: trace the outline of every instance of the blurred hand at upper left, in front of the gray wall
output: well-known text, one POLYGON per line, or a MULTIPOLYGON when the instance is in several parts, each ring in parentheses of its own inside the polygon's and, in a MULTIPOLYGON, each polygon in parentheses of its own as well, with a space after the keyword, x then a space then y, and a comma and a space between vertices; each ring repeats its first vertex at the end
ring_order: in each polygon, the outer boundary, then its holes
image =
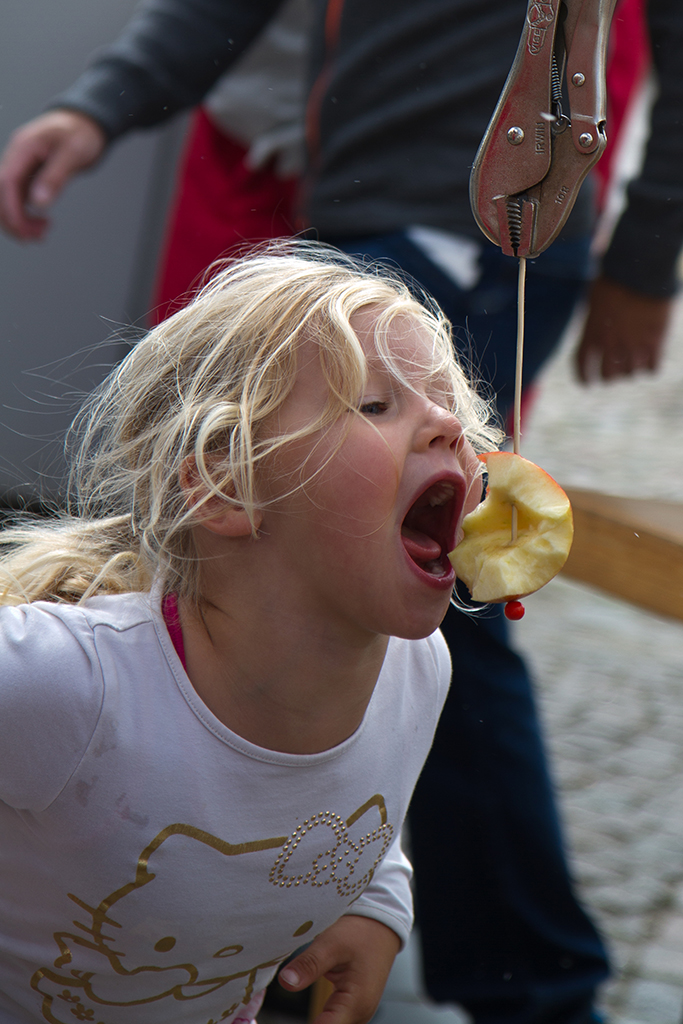
POLYGON ((0 225, 16 239, 42 238, 44 211, 105 145, 99 125, 77 111, 49 111, 18 128, 0 160, 0 225))

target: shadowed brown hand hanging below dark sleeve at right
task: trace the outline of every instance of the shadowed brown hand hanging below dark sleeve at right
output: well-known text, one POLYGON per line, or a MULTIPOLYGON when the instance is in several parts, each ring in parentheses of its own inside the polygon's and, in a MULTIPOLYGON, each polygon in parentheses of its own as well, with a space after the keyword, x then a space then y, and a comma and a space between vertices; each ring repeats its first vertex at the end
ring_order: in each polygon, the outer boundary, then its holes
POLYGON ((673 300, 635 292, 598 278, 577 350, 577 372, 585 384, 656 370, 673 300))

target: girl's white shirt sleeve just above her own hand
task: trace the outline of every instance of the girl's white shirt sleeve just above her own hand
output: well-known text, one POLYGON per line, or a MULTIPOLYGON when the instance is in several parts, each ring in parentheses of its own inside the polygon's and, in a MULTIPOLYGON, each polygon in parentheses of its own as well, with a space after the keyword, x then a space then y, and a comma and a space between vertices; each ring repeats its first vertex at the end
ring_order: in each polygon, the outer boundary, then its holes
POLYGON ((413 928, 413 895, 411 862, 395 839, 378 866, 362 895, 346 911, 361 918, 373 918, 396 933, 401 948, 413 928))

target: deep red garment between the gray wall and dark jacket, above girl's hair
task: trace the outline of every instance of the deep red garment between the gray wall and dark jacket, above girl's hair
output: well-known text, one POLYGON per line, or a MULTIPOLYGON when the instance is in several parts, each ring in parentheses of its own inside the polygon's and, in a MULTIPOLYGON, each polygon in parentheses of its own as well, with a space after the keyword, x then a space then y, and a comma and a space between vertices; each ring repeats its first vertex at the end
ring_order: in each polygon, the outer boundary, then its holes
POLYGON ((246 150, 205 112, 195 115, 180 162, 154 296, 153 323, 182 305, 204 270, 244 242, 294 231, 296 179, 245 165, 246 150))

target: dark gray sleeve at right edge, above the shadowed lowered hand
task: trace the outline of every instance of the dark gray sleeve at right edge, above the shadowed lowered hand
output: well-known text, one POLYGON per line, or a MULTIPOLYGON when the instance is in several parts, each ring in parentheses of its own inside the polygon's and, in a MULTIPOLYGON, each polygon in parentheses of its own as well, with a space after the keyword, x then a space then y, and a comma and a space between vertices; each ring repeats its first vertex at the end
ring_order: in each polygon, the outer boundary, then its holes
POLYGON ((627 288, 666 297, 677 291, 683 246, 683 4, 648 0, 647 20, 657 86, 650 136, 602 269, 627 288))

